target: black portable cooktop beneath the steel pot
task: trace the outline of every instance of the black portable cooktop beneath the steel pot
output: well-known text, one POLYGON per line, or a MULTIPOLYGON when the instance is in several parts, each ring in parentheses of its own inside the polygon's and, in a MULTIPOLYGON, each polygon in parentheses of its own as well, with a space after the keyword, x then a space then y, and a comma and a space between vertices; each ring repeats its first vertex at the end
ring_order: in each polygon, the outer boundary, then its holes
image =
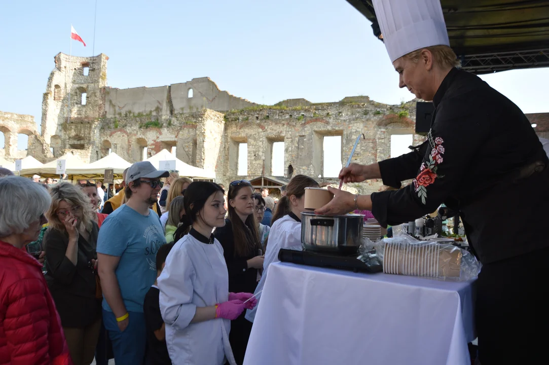
POLYGON ((278 260, 299 265, 337 268, 354 272, 374 273, 383 271, 382 260, 374 250, 363 254, 357 252, 352 256, 341 256, 330 252, 313 252, 304 250, 301 246, 294 246, 278 251, 278 260))

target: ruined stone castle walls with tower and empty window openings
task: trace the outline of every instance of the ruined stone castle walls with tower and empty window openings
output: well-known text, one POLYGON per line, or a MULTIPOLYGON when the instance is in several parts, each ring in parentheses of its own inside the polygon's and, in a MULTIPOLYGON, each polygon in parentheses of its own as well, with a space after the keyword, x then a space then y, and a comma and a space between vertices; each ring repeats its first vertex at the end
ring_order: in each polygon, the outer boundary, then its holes
MULTIPOLYGON (((110 151, 129 162, 175 147, 176 157, 212 170, 216 181, 272 176, 272 146, 284 142, 284 178, 303 173, 324 183, 323 139, 340 136, 338 154, 346 163, 358 134, 353 160, 371 164, 390 157, 393 134, 415 134, 415 101, 386 105, 368 97, 334 103, 284 100, 258 105, 221 91, 208 77, 160 87, 119 89, 107 86, 107 55, 70 57, 59 53, 42 101, 41 135, 31 116, 0 112, 5 147, 0 157, 26 153, 47 162, 72 152, 93 162, 110 151), (69 100, 70 90, 70 100, 69 100), (17 133, 29 136, 29 149, 17 151, 17 133), (239 145, 247 143, 247 175, 239 176, 239 145), (15 147, 14 147, 15 146, 15 147)), ((355 184, 360 193, 382 187, 380 181, 355 184)))

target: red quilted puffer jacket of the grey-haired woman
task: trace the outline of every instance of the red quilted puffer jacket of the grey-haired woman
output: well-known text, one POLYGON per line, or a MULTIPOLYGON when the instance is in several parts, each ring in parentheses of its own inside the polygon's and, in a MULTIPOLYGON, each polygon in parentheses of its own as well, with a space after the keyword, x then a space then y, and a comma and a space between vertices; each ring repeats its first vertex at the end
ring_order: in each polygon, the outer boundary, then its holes
POLYGON ((0 364, 72 365, 42 265, 0 241, 0 364))

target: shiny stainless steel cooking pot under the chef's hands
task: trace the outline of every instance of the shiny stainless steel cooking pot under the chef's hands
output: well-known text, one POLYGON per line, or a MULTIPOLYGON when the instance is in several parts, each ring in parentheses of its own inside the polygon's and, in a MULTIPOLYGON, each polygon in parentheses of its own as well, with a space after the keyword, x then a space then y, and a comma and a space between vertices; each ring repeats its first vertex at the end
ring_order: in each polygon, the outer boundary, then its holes
POLYGON ((356 254, 362 244, 364 215, 322 216, 301 213, 301 245, 305 250, 356 254))

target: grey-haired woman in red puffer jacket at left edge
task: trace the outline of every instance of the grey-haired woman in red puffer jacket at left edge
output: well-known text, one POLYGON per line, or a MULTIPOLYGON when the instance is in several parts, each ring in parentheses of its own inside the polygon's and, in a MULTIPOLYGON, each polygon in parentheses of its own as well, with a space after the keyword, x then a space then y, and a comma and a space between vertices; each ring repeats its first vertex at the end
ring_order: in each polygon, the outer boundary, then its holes
POLYGON ((0 201, 0 363, 68 364, 42 265, 24 249, 47 222, 51 198, 30 179, 7 176, 0 178, 0 201))

